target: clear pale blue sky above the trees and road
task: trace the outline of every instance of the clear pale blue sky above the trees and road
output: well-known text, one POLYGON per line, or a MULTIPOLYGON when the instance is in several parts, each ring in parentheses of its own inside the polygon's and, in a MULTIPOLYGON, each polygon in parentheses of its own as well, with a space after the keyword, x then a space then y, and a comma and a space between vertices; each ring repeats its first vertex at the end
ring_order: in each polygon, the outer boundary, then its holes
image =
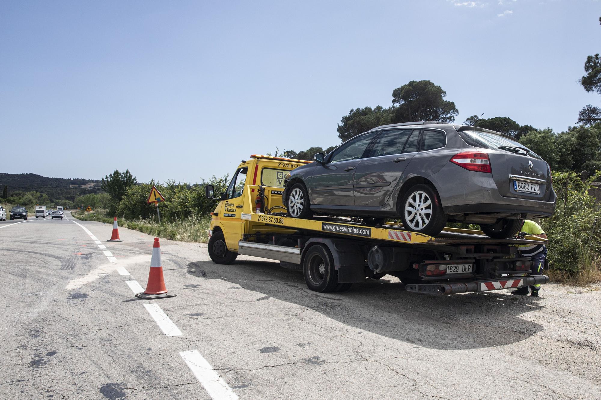
POLYGON ((200 181, 338 144, 351 108, 421 79, 457 123, 566 130, 601 102, 577 82, 600 16, 594 0, 3 1, 0 172, 200 181))

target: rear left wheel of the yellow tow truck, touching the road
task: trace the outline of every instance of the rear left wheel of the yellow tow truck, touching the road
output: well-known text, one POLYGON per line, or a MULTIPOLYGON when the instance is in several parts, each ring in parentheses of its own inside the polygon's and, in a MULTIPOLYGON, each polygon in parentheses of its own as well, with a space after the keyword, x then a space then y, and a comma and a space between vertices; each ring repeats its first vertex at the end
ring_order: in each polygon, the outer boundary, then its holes
POLYGON ((316 292, 332 292, 338 287, 338 271, 330 250, 320 244, 310 247, 303 261, 305 283, 316 292))

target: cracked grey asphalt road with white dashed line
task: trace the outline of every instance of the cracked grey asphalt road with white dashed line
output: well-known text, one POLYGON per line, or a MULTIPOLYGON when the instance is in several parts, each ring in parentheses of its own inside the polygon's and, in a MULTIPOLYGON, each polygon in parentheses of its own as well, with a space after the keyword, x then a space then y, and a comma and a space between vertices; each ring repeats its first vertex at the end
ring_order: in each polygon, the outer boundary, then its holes
POLYGON ((429 297, 386 276, 319 294, 161 240, 177 297, 140 300, 153 238, 66 216, 0 223, 2 399, 601 396, 599 287, 429 297))

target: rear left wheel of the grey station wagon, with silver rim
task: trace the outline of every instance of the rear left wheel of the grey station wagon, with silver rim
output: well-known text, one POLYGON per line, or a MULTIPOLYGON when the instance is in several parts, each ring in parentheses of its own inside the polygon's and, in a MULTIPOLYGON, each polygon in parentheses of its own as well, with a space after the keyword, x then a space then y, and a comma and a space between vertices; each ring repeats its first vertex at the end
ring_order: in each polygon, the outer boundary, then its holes
POLYGON ((429 184, 420 183, 410 187, 401 198, 398 211, 407 231, 435 236, 447 225, 441 199, 429 184))

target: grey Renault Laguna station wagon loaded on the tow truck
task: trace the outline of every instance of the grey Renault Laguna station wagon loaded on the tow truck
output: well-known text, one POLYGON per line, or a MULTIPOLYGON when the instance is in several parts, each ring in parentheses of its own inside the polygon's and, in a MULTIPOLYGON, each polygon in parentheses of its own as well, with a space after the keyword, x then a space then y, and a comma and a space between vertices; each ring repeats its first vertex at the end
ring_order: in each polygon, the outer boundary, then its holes
POLYGON ((549 165, 511 136, 473 126, 418 122, 376 127, 290 172, 284 204, 292 217, 401 219, 436 235, 447 222, 475 223, 511 237, 521 219, 555 209, 549 165))

